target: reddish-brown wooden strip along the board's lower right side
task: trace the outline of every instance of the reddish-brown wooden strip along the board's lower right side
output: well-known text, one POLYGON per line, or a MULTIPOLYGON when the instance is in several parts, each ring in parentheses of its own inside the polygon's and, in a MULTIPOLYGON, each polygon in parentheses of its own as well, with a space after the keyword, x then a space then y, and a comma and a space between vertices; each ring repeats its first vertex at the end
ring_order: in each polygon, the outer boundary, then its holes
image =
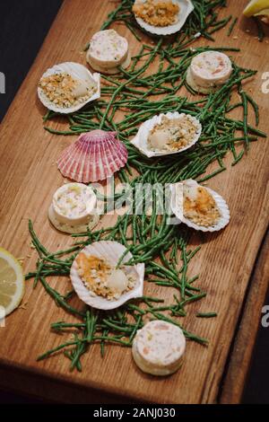
POLYGON ((269 232, 267 231, 250 277, 237 332, 222 376, 218 398, 221 404, 239 404, 242 399, 268 288, 268 255, 269 232))

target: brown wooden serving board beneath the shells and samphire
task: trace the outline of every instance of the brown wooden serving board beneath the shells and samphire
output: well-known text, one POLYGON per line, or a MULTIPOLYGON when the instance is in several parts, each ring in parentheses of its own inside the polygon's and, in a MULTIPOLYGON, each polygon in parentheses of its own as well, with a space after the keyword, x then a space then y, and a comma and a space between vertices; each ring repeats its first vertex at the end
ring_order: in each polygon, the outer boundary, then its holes
MULTIPOLYGON (((242 48, 233 55, 237 63, 258 69, 247 89, 259 103, 260 128, 266 131, 269 94, 261 91, 261 85, 262 74, 268 71, 268 43, 258 42, 252 23, 241 16, 245 1, 228 4, 223 15, 239 16, 239 23, 230 38, 227 28, 216 32, 214 46, 242 48)), ((0 242, 16 257, 25 258, 25 272, 34 268, 37 260, 36 252, 30 249, 29 218, 48 250, 74 242, 57 233, 47 218, 52 195, 63 183, 56 159, 74 137, 54 136, 43 129, 45 110, 36 94, 39 77, 56 63, 71 60, 84 64, 83 46, 114 7, 115 2, 109 1, 65 1, 2 124, 0 242)), ((134 36, 125 26, 117 29, 126 35, 135 54, 139 43, 134 36)), ((208 42, 196 41, 196 45, 205 44, 208 42)), ((54 127, 63 127, 63 122, 54 127)), ((209 182, 230 204, 231 222, 221 233, 193 238, 193 244, 202 243, 203 247, 193 259, 190 275, 200 274, 199 286, 208 294, 188 308, 184 325, 209 338, 210 343, 203 347, 188 342, 184 365, 177 374, 167 378, 143 374, 134 365, 130 349, 117 346, 107 347, 104 358, 99 346, 91 347, 82 357, 82 373, 70 373, 64 356, 37 363, 37 356, 68 338, 68 334, 51 332, 50 324, 72 321, 73 317, 57 308, 41 286, 33 290, 29 281, 25 306, 7 317, 5 328, 0 329, 0 386, 71 402, 239 402, 268 282, 267 249, 263 249, 253 274, 268 222, 268 154, 267 141, 260 139, 237 166, 230 167, 228 159, 228 170, 209 182), (197 311, 215 311, 219 316, 198 319, 197 311), (231 347, 235 336, 235 347, 231 347)), ((70 288, 67 279, 53 279, 51 284, 63 291, 70 288)), ((171 295, 169 289, 152 285, 146 286, 145 292, 163 298, 171 295)))

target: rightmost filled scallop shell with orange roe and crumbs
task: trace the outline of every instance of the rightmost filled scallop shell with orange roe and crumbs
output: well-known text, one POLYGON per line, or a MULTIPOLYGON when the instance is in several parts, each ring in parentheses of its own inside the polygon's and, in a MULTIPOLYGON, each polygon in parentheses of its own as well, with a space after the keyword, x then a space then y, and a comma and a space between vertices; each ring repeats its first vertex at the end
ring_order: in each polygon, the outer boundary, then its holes
POLYGON ((230 222, 225 200, 213 189, 189 179, 170 185, 171 210, 181 223, 202 232, 217 232, 230 222))

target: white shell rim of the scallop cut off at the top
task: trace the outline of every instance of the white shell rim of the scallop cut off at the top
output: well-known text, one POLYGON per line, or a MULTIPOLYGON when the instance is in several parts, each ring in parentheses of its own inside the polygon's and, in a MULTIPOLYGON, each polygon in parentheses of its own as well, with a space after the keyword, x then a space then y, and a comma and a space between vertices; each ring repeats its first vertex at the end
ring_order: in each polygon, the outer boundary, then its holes
MULTIPOLYGON (((134 3, 145 3, 146 0, 136 0, 134 3)), ((156 35, 170 35, 174 34, 181 30, 185 22, 187 21, 187 17, 190 13, 194 10, 194 5, 190 0, 172 0, 174 4, 179 5, 179 13, 178 13, 178 22, 174 23, 173 25, 169 26, 153 26, 147 22, 144 22, 143 19, 138 18, 134 14, 134 18, 136 22, 143 28, 143 30, 147 32, 151 32, 152 34, 156 35)))

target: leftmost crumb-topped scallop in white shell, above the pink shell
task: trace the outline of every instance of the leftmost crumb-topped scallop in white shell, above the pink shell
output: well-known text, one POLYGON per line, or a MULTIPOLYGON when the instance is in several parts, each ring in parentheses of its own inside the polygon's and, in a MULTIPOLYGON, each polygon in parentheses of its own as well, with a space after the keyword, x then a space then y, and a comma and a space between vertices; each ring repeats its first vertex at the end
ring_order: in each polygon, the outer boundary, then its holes
POLYGON ((100 74, 93 74, 79 63, 65 62, 42 75, 39 100, 49 110, 68 114, 100 98, 100 74))

